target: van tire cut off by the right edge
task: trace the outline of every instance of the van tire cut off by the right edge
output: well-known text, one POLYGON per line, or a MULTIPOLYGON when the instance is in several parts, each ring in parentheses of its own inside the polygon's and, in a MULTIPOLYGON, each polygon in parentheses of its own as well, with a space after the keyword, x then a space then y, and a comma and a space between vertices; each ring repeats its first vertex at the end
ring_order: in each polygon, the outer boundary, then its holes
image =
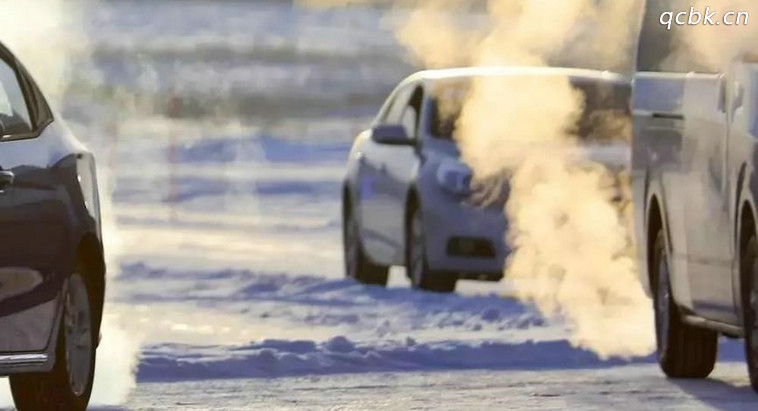
POLYGON ((740 255, 742 318, 745 327, 745 358, 750 385, 758 392, 758 241, 755 234, 745 242, 740 255))

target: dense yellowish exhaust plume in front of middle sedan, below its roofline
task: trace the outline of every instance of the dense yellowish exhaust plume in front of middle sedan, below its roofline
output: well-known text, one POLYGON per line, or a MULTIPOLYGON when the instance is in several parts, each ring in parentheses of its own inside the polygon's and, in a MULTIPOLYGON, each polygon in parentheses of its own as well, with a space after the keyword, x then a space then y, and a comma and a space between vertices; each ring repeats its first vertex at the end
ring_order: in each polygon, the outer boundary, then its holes
POLYGON ((582 109, 566 78, 484 78, 463 108, 458 142, 480 176, 510 176, 506 276, 516 296, 563 317, 576 346, 601 357, 646 355, 652 305, 612 173, 571 133, 582 109))

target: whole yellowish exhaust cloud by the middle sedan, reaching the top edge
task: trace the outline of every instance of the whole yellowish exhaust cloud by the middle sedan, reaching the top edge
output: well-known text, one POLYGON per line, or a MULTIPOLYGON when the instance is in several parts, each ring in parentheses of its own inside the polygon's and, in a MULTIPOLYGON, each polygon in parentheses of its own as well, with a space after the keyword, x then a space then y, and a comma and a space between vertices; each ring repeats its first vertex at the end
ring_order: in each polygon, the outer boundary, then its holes
MULTIPOLYGON (((398 39, 426 67, 557 61, 627 74, 642 10, 640 0, 420 0, 396 6, 407 15, 398 39), (476 7, 486 12, 486 24, 471 29, 458 23, 461 10, 476 7)), ((611 171, 590 161, 573 135, 583 109, 582 94, 567 77, 483 77, 470 87, 456 139, 477 178, 509 176, 506 241, 513 253, 506 278, 516 296, 565 319, 578 347, 603 358, 647 355, 655 346, 652 304, 637 279, 628 210, 613 202, 611 171)), ((624 130, 605 137, 623 143, 629 127, 624 130)))

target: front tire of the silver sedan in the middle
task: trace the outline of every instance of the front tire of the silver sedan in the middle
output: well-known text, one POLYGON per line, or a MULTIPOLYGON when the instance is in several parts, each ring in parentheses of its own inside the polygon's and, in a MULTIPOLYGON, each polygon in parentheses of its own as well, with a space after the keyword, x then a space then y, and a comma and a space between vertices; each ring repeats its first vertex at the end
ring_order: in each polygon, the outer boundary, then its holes
POLYGON ((424 220, 421 210, 414 207, 410 210, 409 216, 405 269, 408 278, 411 280, 411 285, 413 288, 420 290, 452 293, 455 291, 455 284, 458 282, 458 278, 446 273, 436 273, 429 269, 429 263, 426 258, 424 220))

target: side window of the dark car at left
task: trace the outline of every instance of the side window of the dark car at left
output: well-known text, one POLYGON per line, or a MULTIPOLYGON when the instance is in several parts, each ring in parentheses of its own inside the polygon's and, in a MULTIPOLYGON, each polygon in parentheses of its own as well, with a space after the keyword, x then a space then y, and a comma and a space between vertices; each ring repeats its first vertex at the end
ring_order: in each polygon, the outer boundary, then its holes
POLYGON ((32 131, 29 107, 15 70, 0 60, 0 134, 14 135, 32 131))

